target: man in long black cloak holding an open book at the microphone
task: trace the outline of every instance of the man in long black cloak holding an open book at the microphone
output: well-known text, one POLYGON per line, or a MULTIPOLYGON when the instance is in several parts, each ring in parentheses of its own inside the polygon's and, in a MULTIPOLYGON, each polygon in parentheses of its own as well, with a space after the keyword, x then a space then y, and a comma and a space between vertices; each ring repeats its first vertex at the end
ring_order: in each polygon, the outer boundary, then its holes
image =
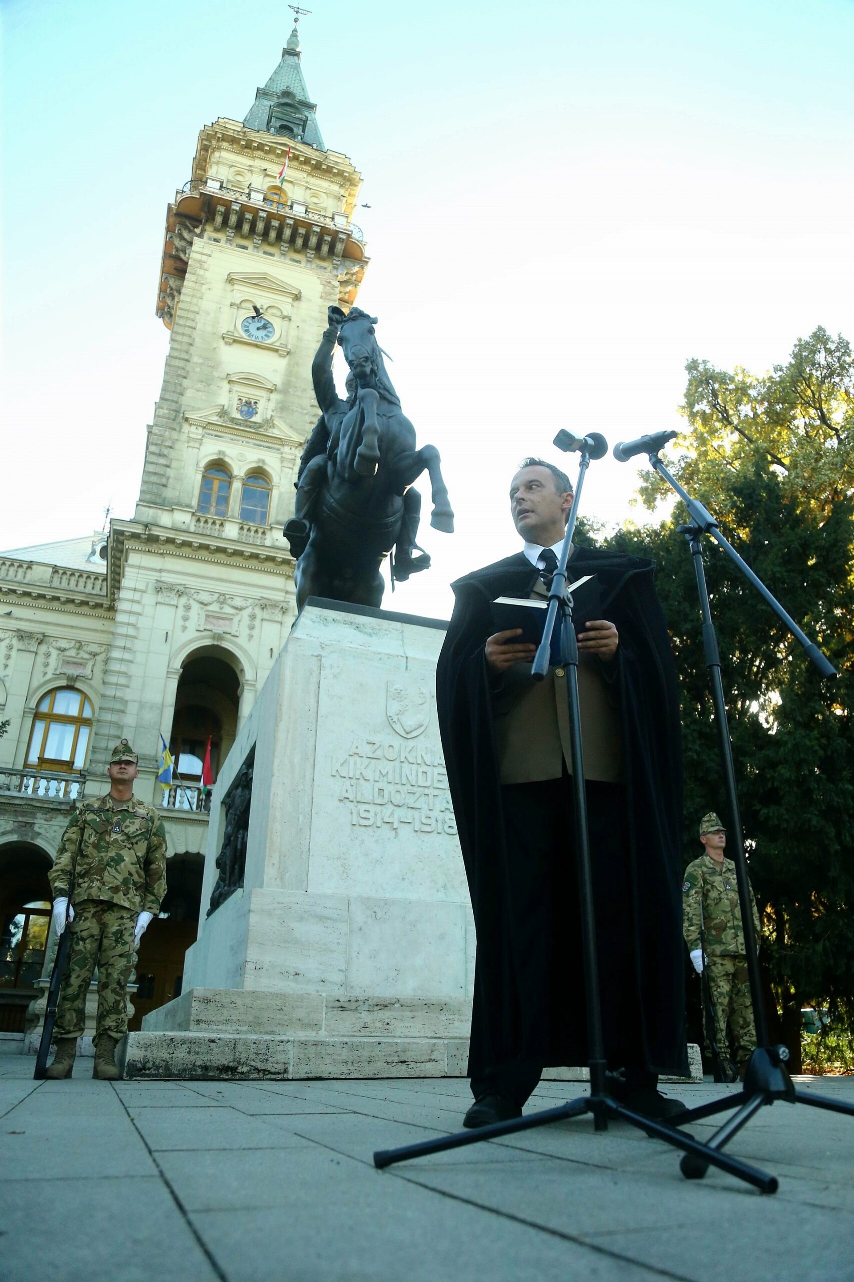
MULTIPOLYGON (((572 501, 526 459, 511 485, 524 551, 453 583, 437 670, 439 726, 478 932, 465 1124, 521 1115, 543 1068, 588 1061, 562 668, 530 678, 534 647, 495 632, 498 596, 545 595, 572 501)), ((681 944, 681 729, 652 562, 574 547, 607 619, 579 635, 585 788, 608 1088, 654 1117, 688 1074, 681 944)))

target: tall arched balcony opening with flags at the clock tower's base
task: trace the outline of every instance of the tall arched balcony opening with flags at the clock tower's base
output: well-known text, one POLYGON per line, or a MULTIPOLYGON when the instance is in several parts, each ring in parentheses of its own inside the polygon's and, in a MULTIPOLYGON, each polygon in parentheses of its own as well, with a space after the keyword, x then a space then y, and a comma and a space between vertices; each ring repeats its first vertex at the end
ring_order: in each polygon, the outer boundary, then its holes
POLYGON ((178 679, 169 736, 175 769, 166 800, 175 810, 206 809, 202 765, 207 744, 215 782, 237 735, 241 682, 224 653, 216 646, 195 650, 178 679))

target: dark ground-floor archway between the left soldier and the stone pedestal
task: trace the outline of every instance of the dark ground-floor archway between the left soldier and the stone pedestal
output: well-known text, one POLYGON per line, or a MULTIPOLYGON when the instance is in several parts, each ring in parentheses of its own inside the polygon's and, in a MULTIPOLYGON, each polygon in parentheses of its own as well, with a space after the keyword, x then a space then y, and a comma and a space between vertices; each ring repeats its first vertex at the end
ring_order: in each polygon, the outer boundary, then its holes
POLYGON ((181 854, 166 859, 166 894, 160 917, 151 923, 140 942, 137 956, 137 992, 132 999, 131 1031, 142 1027, 142 1017, 173 997, 181 996, 184 953, 198 933, 201 883, 205 856, 181 854))

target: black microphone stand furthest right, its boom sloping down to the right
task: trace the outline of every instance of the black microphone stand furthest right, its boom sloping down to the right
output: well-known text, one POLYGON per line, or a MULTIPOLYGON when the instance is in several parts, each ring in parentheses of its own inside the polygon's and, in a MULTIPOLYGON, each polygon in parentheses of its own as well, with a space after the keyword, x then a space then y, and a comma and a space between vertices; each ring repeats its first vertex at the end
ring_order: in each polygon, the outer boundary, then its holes
MULTIPOLYGON (((741 912, 741 928, 746 947, 748 978, 750 983, 750 1003, 753 1005, 753 1019, 757 1032, 757 1049, 750 1056, 744 1077, 744 1087, 735 1095, 726 1095, 711 1104, 703 1104, 695 1109, 688 1109, 672 1119, 675 1126, 685 1126, 702 1118, 713 1117, 729 1109, 736 1113, 729 1122, 720 1127, 708 1141, 708 1147, 720 1153, 726 1144, 737 1135, 743 1126, 763 1105, 773 1104, 775 1100, 786 1100, 789 1104, 808 1104, 814 1109, 830 1109, 832 1113, 842 1113, 854 1117, 854 1105, 831 1100, 827 1096, 812 1095, 795 1090, 786 1064, 789 1061, 789 1047, 784 1045, 768 1045, 768 1020, 766 1015, 764 1000, 762 996, 762 983, 759 977, 759 958, 757 953, 755 932, 753 929, 752 891, 748 878, 748 864, 744 855, 744 838, 741 833, 741 817, 739 813, 739 797, 735 785, 735 763, 732 758, 732 742, 730 740, 730 727, 726 713, 726 700, 723 695, 723 681, 721 678, 721 656, 712 620, 708 587, 705 585, 705 572, 703 569, 703 549, 700 538, 711 535, 718 547, 722 547, 731 562, 741 570, 744 577, 753 583, 761 596, 768 603, 777 618, 785 623, 791 635, 800 642, 807 655, 816 665, 822 677, 836 677, 836 669, 814 641, 798 627, 795 620, 786 614, 782 605, 768 591, 766 585, 758 578, 750 567, 739 556, 736 550, 726 541, 718 529, 714 517, 676 481, 658 458, 657 446, 649 455, 649 465, 662 477, 688 508, 691 524, 680 526, 679 533, 685 535, 694 563, 694 577, 700 601, 700 614, 703 618, 703 649, 705 664, 709 670, 712 685, 712 703, 714 706, 714 723, 717 727, 718 754, 721 758, 721 770, 723 774, 723 787, 730 813, 730 832, 732 835, 732 858, 735 863, 736 883, 739 888, 739 908, 741 912)), ((708 1159, 695 1153, 686 1153, 680 1163, 682 1174, 688 1179, 702 1179, 708 1169, 708 1159)), ((775 1179, 776 1187, 776 1179, 775 1179)), ((768 1190, 773 1191, 773 1190, 768 1190)))

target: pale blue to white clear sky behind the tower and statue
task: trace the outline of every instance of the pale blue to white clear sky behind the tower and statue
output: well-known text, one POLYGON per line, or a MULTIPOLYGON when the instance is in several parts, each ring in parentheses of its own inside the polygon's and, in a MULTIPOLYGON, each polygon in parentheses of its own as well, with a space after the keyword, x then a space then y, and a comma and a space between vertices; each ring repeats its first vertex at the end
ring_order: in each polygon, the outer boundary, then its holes
MULTIPOLYGON (((108 503, 132 515, 166 204, 292 15, 1 14, 9 549, 100 528, 108 503)), ((817 324, 854 338, 854 0, 315 0, 301 38, 325 142, 371 205, 359 303, 458 517, 451 537, 423 524, 434 569, 387 608, 447 615, 452 578, 515 550, 510 476, 565 458, 561 427, 612 445, 680 427, 690 356, 761 372, 817 324)), ((640 518, 635 485, 594 463, 588 513, 640 518)))

